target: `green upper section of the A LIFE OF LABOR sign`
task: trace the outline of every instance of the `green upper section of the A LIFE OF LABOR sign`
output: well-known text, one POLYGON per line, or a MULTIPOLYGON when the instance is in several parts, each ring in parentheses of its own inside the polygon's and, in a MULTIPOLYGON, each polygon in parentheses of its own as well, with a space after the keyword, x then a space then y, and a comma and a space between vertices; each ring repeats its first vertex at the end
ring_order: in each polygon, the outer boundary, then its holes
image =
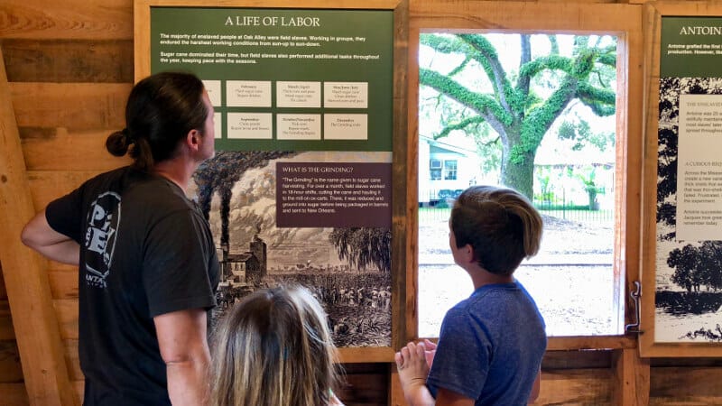
POLYGON ((392 151, 393 11, 151 8, 151 71, 190 70, 218 150, 392 151))

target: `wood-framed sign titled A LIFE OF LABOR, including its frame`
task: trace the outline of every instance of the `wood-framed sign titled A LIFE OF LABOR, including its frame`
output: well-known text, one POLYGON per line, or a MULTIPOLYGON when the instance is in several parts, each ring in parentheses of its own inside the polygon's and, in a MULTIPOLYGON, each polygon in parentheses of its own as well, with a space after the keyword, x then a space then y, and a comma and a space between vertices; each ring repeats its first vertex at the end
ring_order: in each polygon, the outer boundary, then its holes
POLYGON ((136 78, 191 71, 215 110, 216 156, 191 190, 221 263, 214 319, 251 291, 300 282, 338 346, 393 359, 392 234, 405 233, 392 222, 405 205, 392 196, 405 182, 393 179, 393 147, 405 127, 389 5, 135 0, 136 78))

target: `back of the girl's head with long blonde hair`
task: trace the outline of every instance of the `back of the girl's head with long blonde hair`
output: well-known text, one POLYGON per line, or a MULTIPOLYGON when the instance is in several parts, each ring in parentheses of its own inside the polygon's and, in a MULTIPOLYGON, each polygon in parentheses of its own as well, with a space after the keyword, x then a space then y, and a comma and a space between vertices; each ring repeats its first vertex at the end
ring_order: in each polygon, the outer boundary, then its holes
POLYGON ((300 286, 256 291, 218 324, 211 405, 328 405, 338 383, 326 313, 300 286))

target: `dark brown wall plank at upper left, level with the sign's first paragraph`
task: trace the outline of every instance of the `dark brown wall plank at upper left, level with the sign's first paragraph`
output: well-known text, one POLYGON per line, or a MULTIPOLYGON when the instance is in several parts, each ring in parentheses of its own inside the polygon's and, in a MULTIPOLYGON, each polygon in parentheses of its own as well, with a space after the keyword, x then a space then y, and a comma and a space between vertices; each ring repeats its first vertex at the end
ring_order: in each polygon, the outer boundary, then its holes
POLYGON ((10 82, 133 83, 133 41, 5 40, 10 82))

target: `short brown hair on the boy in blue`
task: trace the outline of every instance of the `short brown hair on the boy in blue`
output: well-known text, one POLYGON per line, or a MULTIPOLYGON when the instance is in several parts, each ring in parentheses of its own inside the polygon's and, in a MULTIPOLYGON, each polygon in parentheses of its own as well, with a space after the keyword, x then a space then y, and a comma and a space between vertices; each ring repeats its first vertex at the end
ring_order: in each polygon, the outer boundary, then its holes
POLYGON ((459 248, 471 245, 477 263, 500 275, 514 273, 542 242, 542 217, 513 189, 469 187, 454 203, 449 226, 459 248))

